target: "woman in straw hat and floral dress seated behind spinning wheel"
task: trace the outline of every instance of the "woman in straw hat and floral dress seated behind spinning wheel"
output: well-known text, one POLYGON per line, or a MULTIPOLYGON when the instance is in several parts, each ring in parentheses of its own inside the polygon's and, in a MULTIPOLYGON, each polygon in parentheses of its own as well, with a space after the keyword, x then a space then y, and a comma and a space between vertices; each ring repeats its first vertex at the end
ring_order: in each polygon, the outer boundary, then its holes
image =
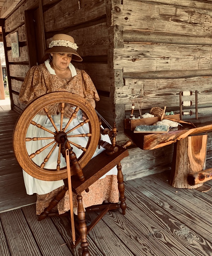
MULTIPOLYGON (((32 100, 46 93, 53 91, 69 91, 84 97, 93 107, 95 107, 95 101, 99 101, 99 96, 92 80, 85 71, 75 69, 75 67, 70 63, 71 60, 82 61, 82 58, 76 52, 77 48, 78 47, 71 36, 65 34, 54 35, 53 40, 49 44, 49 48, 46 49, 46 52, 50 54, 50 59, 39 66, 30 68, 22 84, 19 100, 24 104, 29 104, 32 100)), ((65 104, 64 117, 70 118, 74 108, 75 107, 71 106, 70 104, 65 104)), ((59 126, 61 104, 55 104, 49 107, 48 110, 56 125, 59 126)), ((41 111, 39 114, 40 115, 36 115, 33 120, 36 123, 51 129, 49 119, 47 118, 45 112, 41 111)), ((84 119, 82 115, 83 113, 80 111, 77 113, 77 118, 73 120, 73 126, 79 122, 82 122, 82 119, 84 119)), ((30 125, 27 132, 27 137, 48 137, 45 131, 36 128, 37 127, 30 125)), ((77 132, 86 133, 88 126, 85 125, 81 128, 84 130, 79 130, 77 132)), ((87 144, 86 138, 76 139, 80 140, 80 143, 75 141, 77 144, 87 144)), ((102 139, 108 142, 110 141, 108 136, 104 136, 102 139)), ((33 143, 37 143, 36 146, 38 148, 43 146, 42 143, 47 144, 46 141, 41 140, 30 141, 30 143, 26 145, 29 154, 31 154, 35 148, 35 144, 33 143)), ((77 148, 74 148, 73 151, 76 153, 77 157, 79 157, 82 152, 77 148)), ((51 166, 55 167, 55 163, 57 162, 56 155, 57 152, 54 153, 54 157, 51 156, 51 158, 49 158, 45 168, 51 168, 51 166), (54 160, 52 160, 53 158, 54 160)), ((33 158, 35 163, 45 158, 45 155, 43 154, 39 154, 37 156, 37 159, 34 160, 33 158)), ((63 161, 61 162, 61 167, 63 165, 65 166, 65 161, 62 159, 62 157, 61 161, 63 161)), ((54 198, 54 196, 63 188, 63 180, 48 182, 35 179, 25 171, 23 171, 23 174, 27 193, 29 195, 37 193, 36 214, 39 215, 48 206, 49 202, 54 198)), ((89 187, 89 193, 84 191, 82 193, 83 206, 86 208, 91 205, 102 204, 104 200, 112 203, 118 202, 119 199, 116 175, 117 169, 114 167, 110 172, 89 187)), ((67 191, 64 198, 55 207, 54 211, 58 210, 61 214, 68 211, 69 207, 69 195, 67 191)), ((75 194, 73 194, 73 207, 74 213, 77 214, 77 201, 75 194)))

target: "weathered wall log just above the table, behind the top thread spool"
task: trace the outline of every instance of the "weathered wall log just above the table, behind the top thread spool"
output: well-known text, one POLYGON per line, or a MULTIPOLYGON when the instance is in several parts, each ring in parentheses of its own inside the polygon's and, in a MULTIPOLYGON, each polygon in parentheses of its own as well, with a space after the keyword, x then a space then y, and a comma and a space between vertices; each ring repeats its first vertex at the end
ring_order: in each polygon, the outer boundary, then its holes
MULTIPOLYGON (((127 104, 131 109, 132 101, 135 108, 151 108, 153 106, 174 107, 179 105, 179 91, 198 90, 199 104, 212 102, 212 76, 179 79, 124 79, 123 87, 116 87, 114 103, 127 104), (138 103, 138 104, 137 104, 138 103)), ((192 100, 195 105, 195 95, 186 100, 192 100)))

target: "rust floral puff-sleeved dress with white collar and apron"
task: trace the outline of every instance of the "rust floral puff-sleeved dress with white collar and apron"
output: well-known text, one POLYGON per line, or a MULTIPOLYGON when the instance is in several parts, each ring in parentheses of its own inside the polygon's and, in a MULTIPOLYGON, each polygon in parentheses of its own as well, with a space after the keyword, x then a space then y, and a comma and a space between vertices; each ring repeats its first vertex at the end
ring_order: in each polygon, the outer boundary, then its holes
MULTIPOLYGON (((39 66, 32 67, 28 71, 24 79, 24 82, 22 84, 20 94, 19 94, 19 100, 24 104, 29 104, 32 100, 46 93, 50 93, 53 91, 70 91, 72 93, 82 96, 87 101, 89 101, 89 103, 93 107, 95 107, 95 101, 99 101, 99 96, 88 74, 83 70, 75 69, 73 65, 72 65, 71 73, 72 73, 72 78, 63 79, 63 78, 57 77, 55 74, 52 74, 51 71, 49 72, 49 68, 45 63, 39 66), (73 70, 74 72, 72 72, 73 70)), ((58 107, 58 104, 54 104, 51 107, 49 107, 48 110, 49 110, 49 113, 53 117, 55 117, 55 119, 60 119, 58 118, 58 115, 57 115, 57 107, 58 107)), ((46 115, 44 115, 44 111, 43 113, 41 111, 39 114, 40 115, 35 116, 35 120, 37 121, 37 123, 40 123, 41 125, 45 123, 48 125, 49 120, 46 117, 46 115)), ((78 119, 80 119, 80 117, 78 119)), ((78 121, 78 119, 75 120, 75 125, 76 125, 76 122, 82 122, 82 120, 78 121)), ((27 132, 29 135, 27 135, 27 137, 30 137, 31 135, 35 137, 36 131, 33 130, 34 128, 30 128, 30 126, 27 132)), ((40 132, 37 132, 37 133, 40 133, 40 132)), ((43 136, 43 134, 36 134, 36 137, 45 137, 45 136, 43 136)), ((80 139, 85 139, 85 138, 80 138, 80 139)), ((109 137, 106 138, 106 135, 102 139, 105 141, 110 141, 109 137)), ((83 143, 86 143, 86 142, 80 141, 79 144, 82 145, 83 143)), ((28 150, 28 153, 31 154, 31 151, 34 150, 33 146, 28 146, 27 150, 28 150)), ((76 155, 77 154, 78 152, 76 149, 76 155)), ((61 160, 62 159, 63 158, 61 158, 61 160)), ((49 165, 52 164, 50 160, 51 159, 49 158, 49 161, 48 161, 49 163, 47 162, 49 165)), ((56 161, 57 161, 57 158, 56 158, 56 161)), ((45 166, 45 168, 48 168, 48 166, 45 166)), ((54 196, 64 187, 63 180, 55 181, 55 182, 54 181, 47 182, 47 181, 37 180, 31 177, 25 171, 23 171, 23 174, 24 174, 24 181, 25 181, 27 193, 28 194, 37 193, 36 213, 40 214, 49 205, 49 202, 54 198, 54 196)), ((91 205, 101 204, 104 200, 108 200, 109 202, 118 202, 118 187, 117 187, 116 175, 117 175, 117 169, 116 167, 114 167, 110 172, 108 172, 105 176, 97 180, 94 184, 92 184, 89 187, 89 193, 86 193, 85 191, 83 191, 82 192, 83 206, 86 208, 91 205)), ((73 194, 72 195, 73 207, 77 207, 76 194, 74 193, 72 194, 73 194)), ((64 198, 58 203, 58 205, 53 209, 53 211, 58 210, 59 213, 61 214, 68 211, 69 209, 70 209, 70 204, 69 204, 69 195, 67 191, 64 198)))

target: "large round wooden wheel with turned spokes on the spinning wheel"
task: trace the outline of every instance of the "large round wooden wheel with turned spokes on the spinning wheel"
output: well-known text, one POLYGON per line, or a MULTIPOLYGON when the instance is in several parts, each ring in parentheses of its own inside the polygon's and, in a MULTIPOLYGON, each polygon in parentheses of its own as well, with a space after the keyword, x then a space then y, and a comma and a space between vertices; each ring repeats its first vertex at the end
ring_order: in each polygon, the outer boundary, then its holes
MULTIPOLYGON (((61 145, 63 144, 61 138, 67 136, 70 145, 82 151, 82 154, 77 158, 79 165, 81 168, 83 168, 89 162, 96 150, 99 141, 99 134, 99 119, 94 108, 89 104, 88 101, 81 96, 70 92, 59 91, 49 93, 40 96, 31 102, 31 104, 25 108, 22 115, 19 117, 13 133, 14 154, 16 155, 20 166, 34 178, 46 181, 61 180, 67 178, 67 166, 60 167, 60 152, 61 145), (58 105, 59 103, 61 103, 61 116, 59 122, 55 123, 54 119, 49 114, 48 109, 52 105, 58 105), (76 106, 70 119, 64 118, 65 103, 76 106), (40 111, 45 111, 44 114, 46 114, 48 117, 48 128, 33 121, 33 118, 40 113, 40 111), (75 121, 75 118, 79 118, 78 114, 80 111, 84 114, 84 116, 86 116, 86 119, 84 121, 81 119, 81 121, 74 126, 72 123, 75 121), (40 129, 42 132, 47 134, 48 137, 26 137, 29 126, 36 126, 37 129, 40 129), (82 126, 87 126, 89 132, 72 134, 77 128, 82 126), (72 142, 72 138, 76 137, 86 137, 88 139, 87 145, 82 146, 72 142), (47 145, 43 146, 42 148, 37 148, 35 152, 29 154, 26 144, 30 143, 29 141, 34 142, 40 140, 49 142, 47 145), (53 169, 45 168, 45 165, 48 163, 48 160, 51 158, 53 152, 58 149, 57 146, 59 147, 59 150, 55 167, 53 167, 53 169), (42 151, 42 154, 44 154, 44 152, 46 154, 43 161, 35 163, 33 159, 36 158, 36 155, 41 154, 42 151)), ((70 166, 70 171, 71 175, 73 175, 73 166, 70 166)))

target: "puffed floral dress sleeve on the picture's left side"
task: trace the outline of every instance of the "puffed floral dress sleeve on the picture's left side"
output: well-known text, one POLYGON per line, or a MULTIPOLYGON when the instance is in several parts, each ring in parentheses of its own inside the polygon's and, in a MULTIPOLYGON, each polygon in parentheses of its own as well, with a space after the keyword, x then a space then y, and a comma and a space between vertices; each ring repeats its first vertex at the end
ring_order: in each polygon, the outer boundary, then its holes
POLYGON ((41 68, 39 66, 31 67, 20 88, 19 101, 24 104, 29 104, 32 100, 45 94, 46 91, 47 89, 42 78, 41 68))

